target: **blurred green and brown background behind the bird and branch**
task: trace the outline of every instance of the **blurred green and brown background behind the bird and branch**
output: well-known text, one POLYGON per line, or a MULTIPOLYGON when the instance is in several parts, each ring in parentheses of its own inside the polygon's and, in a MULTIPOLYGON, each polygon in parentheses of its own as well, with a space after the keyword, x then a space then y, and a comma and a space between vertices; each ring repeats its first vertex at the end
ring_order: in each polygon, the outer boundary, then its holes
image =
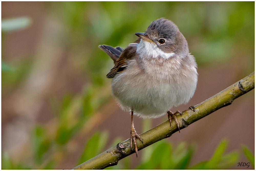
MULTIPOLYGON (((113 61, 98 46, 125 48, 157 18, 178 26, 198 64, 193 98, 172 111, 254 71, 254 2, 1 4, 2 169, 71 169, 128 139, 130 114, 119 108, 106 78, 113 61)), ((254 156, 254 111, 252 90, 111 168, 180 168, 184 156, 193 168, 213 161, 219 146, 221 161, 212 168, 252 169, 237 163, 250 162, 246 151, 254 156), (159 165, 160 156, 173 165, 159 165)), ((165 120, 135 116, 134 126, 140 134, 165 120)))

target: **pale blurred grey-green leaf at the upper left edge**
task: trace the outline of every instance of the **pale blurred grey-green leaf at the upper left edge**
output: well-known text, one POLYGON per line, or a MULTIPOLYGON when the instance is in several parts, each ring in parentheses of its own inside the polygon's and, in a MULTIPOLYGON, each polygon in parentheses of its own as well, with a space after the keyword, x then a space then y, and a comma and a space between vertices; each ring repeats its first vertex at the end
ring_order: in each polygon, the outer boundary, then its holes
POLYGON ((31 19, 28 17, 4 19, 1 21, 2 31, 14 31, 24 29, 31 23, 31 19))

